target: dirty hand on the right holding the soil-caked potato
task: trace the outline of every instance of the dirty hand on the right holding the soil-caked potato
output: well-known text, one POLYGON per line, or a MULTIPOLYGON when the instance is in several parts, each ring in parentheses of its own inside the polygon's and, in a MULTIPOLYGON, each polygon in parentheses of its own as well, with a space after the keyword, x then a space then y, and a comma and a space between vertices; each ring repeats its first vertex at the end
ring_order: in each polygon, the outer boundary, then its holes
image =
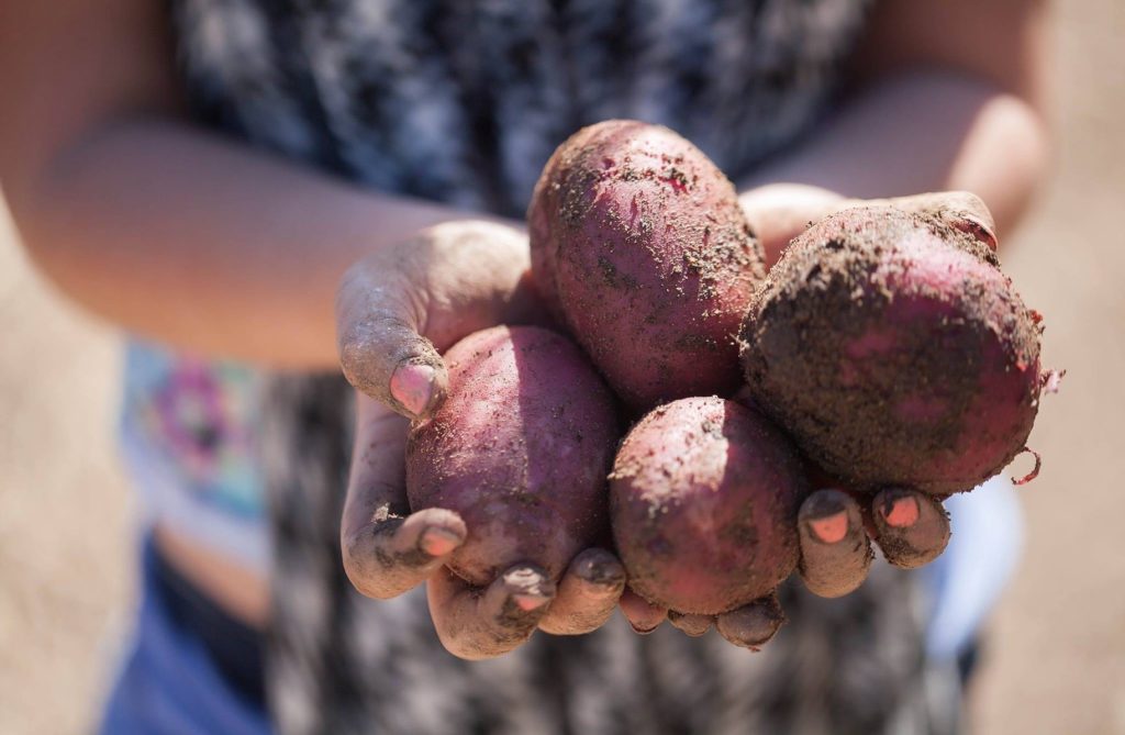
MULTIPOLYGON (((771 266, 809 224, 864 205, 929 212, 993 249, 997 244, 988 207, 969 192, 858 200, 818 187, 771 185, 744 194, 740 200, 771 266)), ((835 598, 858 588, 871 567, 872 540, 891 564, 904 568, 927 564, 945 550, 950 520, 938 499, 906 487, 884 490, 872 499, 834 488, 830 482, 818 484, 820 488, 806 499, 798 517, 799 571, 811 592, 835 598)))

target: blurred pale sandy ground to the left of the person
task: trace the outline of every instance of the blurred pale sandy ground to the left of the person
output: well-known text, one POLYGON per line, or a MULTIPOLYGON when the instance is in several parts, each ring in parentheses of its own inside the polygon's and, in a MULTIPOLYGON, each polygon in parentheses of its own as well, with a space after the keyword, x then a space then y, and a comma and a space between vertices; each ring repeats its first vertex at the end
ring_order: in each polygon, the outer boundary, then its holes
POLYGON ((84 732, 129 599, 116 335, 48 293, 0 212, 0 733, 84 732))

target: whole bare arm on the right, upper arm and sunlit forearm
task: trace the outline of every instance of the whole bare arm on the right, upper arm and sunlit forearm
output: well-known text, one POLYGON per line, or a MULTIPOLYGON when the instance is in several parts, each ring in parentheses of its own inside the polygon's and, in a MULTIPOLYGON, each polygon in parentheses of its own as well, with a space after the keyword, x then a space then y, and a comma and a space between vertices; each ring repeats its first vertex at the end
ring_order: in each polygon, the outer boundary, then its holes
POLYGON ((1041 0, 881 0, 856 91, 752 180, 872 198, 973 191, 1010 230, 1048 162, 1041 0))

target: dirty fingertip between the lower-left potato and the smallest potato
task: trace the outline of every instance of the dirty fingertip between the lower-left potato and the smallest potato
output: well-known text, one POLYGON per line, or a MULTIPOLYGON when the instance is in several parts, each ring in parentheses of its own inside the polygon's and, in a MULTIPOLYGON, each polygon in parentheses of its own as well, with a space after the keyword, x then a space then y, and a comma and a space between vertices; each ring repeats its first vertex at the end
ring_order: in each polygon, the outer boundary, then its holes
POLYGON ((613 615, 624 588, 621 562, 604 549, 586 549, 570 562, 539 629, 561 636, 596 630, 613 615))

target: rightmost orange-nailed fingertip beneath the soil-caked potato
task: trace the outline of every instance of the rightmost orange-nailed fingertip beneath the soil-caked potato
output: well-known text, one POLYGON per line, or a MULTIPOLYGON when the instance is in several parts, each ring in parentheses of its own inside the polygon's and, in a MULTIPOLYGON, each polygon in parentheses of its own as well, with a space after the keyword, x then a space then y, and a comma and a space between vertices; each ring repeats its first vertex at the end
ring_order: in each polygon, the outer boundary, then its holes
POLYGON ((896 566, 914 568, 940 556, 950 543, 950 517, 933 496, 894 487, 875 495, 875 543, 896 566))

